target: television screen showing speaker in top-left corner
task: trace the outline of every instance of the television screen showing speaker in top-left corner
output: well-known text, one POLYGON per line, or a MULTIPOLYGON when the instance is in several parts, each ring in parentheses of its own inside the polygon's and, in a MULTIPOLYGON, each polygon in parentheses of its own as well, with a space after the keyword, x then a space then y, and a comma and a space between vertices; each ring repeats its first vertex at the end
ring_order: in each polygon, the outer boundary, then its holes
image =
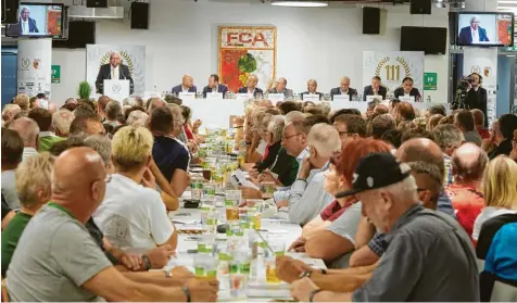
POLYGON ((18 22, 8 24, 8 37, 52 37, 63 35, 64 4, 21 2, 18 22))

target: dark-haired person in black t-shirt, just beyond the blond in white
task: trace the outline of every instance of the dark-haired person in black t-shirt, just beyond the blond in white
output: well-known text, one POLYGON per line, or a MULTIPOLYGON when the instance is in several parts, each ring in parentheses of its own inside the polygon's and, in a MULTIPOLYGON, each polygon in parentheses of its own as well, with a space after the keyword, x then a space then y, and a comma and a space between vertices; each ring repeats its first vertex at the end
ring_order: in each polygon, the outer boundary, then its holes
POLYGON ((188 175, 189 152, 175 139, 176 124, 173 112, 167 106, 155 109, 149 117, 149 128, 154 136, 152 156, 160 172, 171 184, 177 197, 190 185, 188 175))

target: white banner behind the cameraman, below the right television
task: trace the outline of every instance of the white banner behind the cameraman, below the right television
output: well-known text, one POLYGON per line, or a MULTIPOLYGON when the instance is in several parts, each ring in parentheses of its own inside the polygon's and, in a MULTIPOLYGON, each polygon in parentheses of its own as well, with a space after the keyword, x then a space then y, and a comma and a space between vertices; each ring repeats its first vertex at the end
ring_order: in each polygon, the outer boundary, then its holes
POLYGON ((481 75, 481 87, 487 90, 487 118, 489 125, 495 121, 495 104, 497 102, 497 49, 496 48, 464 48, 463 75, 472 73, 481 75))

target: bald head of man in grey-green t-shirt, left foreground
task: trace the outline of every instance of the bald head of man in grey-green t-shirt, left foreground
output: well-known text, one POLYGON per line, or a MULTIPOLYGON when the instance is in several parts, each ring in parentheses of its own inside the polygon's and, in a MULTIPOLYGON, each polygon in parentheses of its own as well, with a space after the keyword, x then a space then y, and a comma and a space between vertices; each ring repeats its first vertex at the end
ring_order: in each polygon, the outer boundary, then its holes
POLYGON ((102 157, 86 147, 63 152, 52 172, 52 201, 88 220, 104 199, 106 173, 102 157))

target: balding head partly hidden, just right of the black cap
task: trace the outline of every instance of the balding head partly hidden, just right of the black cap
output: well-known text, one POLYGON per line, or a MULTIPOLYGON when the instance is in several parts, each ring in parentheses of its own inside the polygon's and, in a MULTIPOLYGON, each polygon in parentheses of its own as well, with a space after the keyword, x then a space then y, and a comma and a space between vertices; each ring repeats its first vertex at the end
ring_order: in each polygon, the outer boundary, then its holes
POLYGON ((440 169, 441 180, 445 174, 445 166, 443 163, 443 153, 440 147, 427 138, 418 138, 405 141, 395 153, 400 162, 427 162, 434 164, 440 169))

